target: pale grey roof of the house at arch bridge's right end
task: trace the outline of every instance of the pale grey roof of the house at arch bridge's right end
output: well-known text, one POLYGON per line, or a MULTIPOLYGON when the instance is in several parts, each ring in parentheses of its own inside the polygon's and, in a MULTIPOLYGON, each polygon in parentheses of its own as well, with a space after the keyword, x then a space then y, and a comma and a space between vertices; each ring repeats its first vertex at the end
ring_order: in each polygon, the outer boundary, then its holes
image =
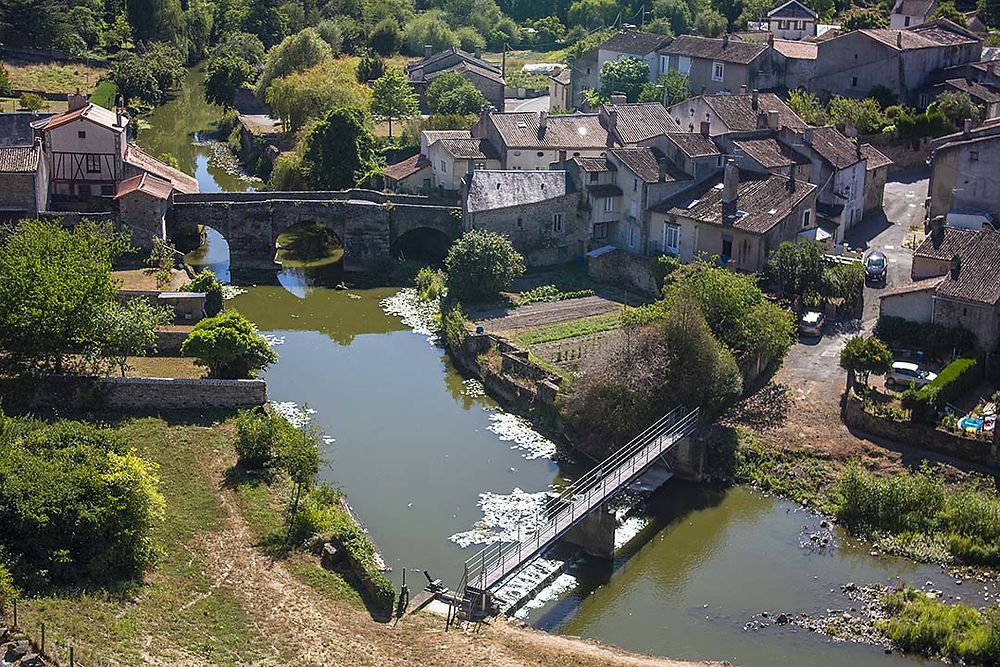
POLYGON ((567 193, 565 171, 472 172, 465 207, 469 213, 537 204, 567 193))

